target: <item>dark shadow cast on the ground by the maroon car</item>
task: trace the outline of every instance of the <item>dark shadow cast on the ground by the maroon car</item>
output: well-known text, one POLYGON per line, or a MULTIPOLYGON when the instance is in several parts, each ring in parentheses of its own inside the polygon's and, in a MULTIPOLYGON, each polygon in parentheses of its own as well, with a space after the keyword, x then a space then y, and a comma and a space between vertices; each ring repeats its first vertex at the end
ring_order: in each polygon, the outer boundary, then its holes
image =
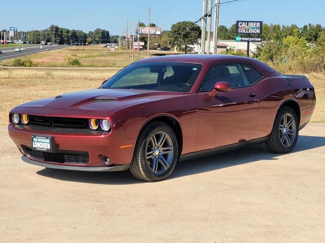
MULTIPOLYGON (((291 153, 325 146, 325 137, 299 136, 296 148, 291 153)), ((258 160, 275 160, 281 154, 270 153, 264 144, 257 144, 239 150, 214 154, 197 159, 180 161, 169 179, 194 175, 232 166, 245 165, 258 160)), ((82 172, 43 169, 37 172, 40 176, 56 180, 93 183, 104 185, 140 184, 145 183, 133 177, 129 171, 121 172, 82 172)))

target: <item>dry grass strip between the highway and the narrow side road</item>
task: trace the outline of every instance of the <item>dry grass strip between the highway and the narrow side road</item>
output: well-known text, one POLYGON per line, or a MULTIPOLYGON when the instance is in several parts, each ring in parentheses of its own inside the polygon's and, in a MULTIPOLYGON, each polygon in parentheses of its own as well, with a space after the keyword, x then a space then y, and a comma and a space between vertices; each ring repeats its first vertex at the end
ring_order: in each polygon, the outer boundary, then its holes
MULTIPOLYGON (((138 60, 138 53, 134 52, 135 58, 132 60, 126 51, 110 51, 101 46, 73 46, 69 48, 45 51, 25 57, 20 57, 22 61, 31 60, 36 67, 71 67, 71 61, 78 59, 80 67, 125 67, 138 60)), ((46 48, 46 46, 44 47, 46 48)), ((155 54, 156 51, 151 51, 155 54)), ((161 53, 161 52, 160 52, 161 53)), ((146 52, 140 52, 140 58, 145 58, 146 52)), ((12 66, 14 59, 1 62, 1 65, 12 66)))

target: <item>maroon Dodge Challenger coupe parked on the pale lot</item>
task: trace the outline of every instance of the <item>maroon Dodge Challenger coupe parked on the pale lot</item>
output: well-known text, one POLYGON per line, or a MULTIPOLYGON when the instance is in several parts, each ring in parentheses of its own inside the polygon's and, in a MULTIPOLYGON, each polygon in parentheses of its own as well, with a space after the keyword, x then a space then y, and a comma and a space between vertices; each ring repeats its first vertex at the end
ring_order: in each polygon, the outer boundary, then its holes
POLYGON ((290 152, 315 101, 307 77, 282 75, 255 59, 175 55, 134 62, 98 89, 19 105, 8 130, 27 163, 129 169, 158 181, 178 160, 242 145, 290 152))

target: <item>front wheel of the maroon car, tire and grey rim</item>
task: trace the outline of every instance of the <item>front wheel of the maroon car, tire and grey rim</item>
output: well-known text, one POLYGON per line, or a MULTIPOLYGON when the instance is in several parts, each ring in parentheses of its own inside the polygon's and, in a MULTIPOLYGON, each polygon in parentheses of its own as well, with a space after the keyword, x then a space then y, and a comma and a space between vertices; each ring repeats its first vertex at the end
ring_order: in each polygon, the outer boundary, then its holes
POLYGON ((140 180, 159 181, 173 172, 177 158, 174 131, 166 123, 154 121, 140 133, 129 169, 140 180))

